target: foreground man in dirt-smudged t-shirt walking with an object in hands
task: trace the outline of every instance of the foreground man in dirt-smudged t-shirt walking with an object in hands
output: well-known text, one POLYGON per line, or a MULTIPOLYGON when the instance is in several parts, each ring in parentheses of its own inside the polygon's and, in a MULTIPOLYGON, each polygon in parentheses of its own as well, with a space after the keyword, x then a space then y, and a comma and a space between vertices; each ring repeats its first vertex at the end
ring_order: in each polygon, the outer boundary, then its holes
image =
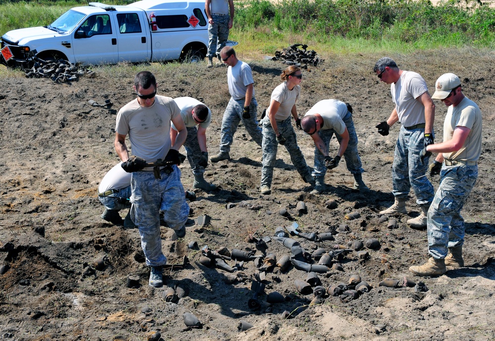
POLYGON ((122 107, 115 124, 115 151, 122 168, 131 176, 131 219, 138 226, 146 265, 150 269, 149 285, 163 285, 162 266, 167 257, 161 250, 160 210, 164 221, 177 238, 186 235, 189 205, 181 183, 179 148, 187 138, 181 111, 170 97, 156 95, 156 79, 149 71, 134 79, 137 98, 122 107), (175 145, 170 140, 170 122, 177 128, 175 145), (132 157, 125 139, 129 135, 132 157), (163 160, 168 164, 156 171, 147 163, 163 160))

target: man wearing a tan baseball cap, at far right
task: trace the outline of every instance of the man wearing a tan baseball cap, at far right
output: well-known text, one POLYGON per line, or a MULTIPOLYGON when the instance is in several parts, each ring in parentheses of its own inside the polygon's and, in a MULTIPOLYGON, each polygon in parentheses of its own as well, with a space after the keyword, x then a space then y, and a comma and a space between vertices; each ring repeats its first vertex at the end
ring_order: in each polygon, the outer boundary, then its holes
POLYGON ((424 265, 409 268, 419 276, 443 275, 447 266, 464 266, 464 219, 460 211, 478 178, 481 154, 481 110, 462 93, 459 77, 453 73, 440 76, 432 98, 444 102, 447 114, 444 142, 426 146, 419 155, 426 161, 432 153, 439 153, 429 171, 441 177, 428 210, 428 252, 432 257, 424 265))

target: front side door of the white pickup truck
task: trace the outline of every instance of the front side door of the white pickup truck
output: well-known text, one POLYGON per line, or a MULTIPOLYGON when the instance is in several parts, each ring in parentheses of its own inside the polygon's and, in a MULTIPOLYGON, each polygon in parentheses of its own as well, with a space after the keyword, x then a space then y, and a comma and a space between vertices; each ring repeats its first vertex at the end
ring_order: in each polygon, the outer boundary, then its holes
POLYGON ((77 62, 84 64, 116 64, 117 33, 109 14, 88 17, 75 30, 73 51, 77 62))

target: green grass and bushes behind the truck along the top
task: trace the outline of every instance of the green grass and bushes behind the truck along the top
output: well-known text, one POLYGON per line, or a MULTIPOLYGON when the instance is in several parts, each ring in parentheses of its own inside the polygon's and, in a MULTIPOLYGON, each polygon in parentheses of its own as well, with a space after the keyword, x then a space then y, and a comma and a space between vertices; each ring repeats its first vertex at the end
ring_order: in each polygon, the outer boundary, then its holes
MULTIPOLYGON (((113 4, 133 1, 113 0, 113 4)), ((0 0, 0 33, 48 25, 87 1, 0 0)), ((261 33, 263 40, 303 34, 325 44, 332 38, 412 44, 416 48, 493 47, 495 8, 480 0, 267 0, 235 1, 233 36, 261 33)), ((254 37, 253 37, 254 38, 254 37)))

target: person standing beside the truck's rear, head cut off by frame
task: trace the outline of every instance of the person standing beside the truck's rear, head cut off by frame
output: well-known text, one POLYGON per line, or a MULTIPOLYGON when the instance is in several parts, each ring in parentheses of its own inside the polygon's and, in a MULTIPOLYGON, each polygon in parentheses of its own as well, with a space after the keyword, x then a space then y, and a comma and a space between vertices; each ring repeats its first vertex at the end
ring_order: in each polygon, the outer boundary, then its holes
POLYGON ((206 0, 204 10, 208 17, 208 66, 213 66, 213 57, 220 59, 220 51, 229 38, 234 20, 234 0, 206 0))

